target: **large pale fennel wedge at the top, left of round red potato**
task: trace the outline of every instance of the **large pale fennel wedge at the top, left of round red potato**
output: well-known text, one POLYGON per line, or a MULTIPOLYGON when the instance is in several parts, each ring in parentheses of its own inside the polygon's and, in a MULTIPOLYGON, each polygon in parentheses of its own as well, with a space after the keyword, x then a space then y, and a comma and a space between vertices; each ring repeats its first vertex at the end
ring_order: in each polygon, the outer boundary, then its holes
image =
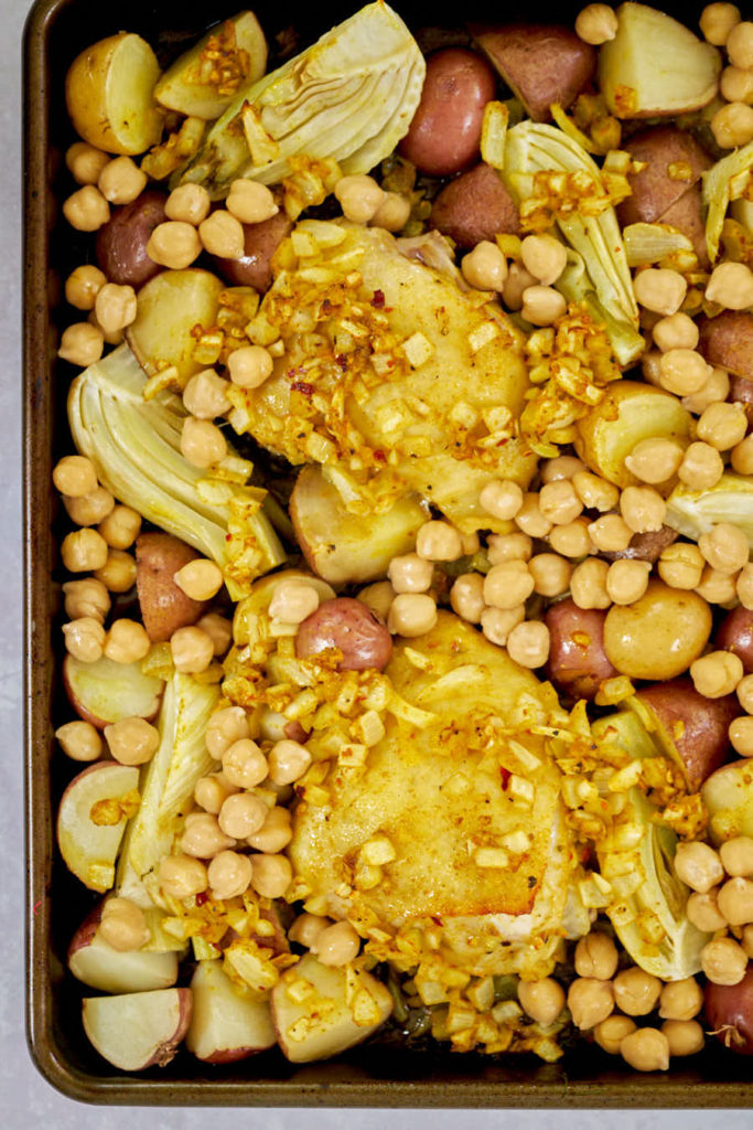
POLYGON ((183 180, 218 199, 238 176, 278 184, 295 157, 330 158, 343 173, 367 173, 408 132, 424 73, 402 19, 382 0, 370 3, 239 89, 183 180))

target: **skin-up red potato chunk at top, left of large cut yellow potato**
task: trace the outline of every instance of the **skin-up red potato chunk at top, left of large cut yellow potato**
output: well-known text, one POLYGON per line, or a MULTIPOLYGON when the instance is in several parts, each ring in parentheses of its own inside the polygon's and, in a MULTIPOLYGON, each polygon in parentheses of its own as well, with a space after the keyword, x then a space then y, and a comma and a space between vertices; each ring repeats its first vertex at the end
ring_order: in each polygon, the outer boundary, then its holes
POLYGON ((472 25, 470 31, 535 122, 549 121, 553 103, 567 110, 596 69, 594 47, 568 27, 472 25))

